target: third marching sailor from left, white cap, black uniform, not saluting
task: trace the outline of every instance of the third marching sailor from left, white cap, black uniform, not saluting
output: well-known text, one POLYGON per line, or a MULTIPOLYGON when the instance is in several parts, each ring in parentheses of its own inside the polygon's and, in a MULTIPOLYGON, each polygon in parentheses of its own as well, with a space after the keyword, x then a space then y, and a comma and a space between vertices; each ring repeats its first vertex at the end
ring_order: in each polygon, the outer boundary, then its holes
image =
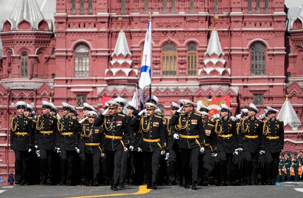
POLYGON ((78 133, 73 131, 76 120, 68 115, 72 107, 67 103, 62 103, 62 106, 63 117, 59 118, 57 122, 58 135, 56 140, 57 151, 61 153, 61 181, 59 185, 71 185, 73 157, 78 147, 78 133))

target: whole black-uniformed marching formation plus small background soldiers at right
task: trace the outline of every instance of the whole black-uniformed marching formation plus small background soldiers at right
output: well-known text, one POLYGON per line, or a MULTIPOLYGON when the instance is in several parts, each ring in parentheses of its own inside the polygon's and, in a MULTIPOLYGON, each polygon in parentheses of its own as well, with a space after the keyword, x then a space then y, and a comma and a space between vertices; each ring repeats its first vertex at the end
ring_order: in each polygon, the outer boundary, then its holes
POLYGON ((80 116, 62 103, 60 117, 46 101, 38 116, 31 105, 16 103, 18 115, 11 120, 15 183, 102 184, 112 190, 146 183, 148 189, 196 190, 198 185, 275 185, 292 179, 291 172, 294 181, 300 179, 302 152, 281 153, 284 124, 276 119, 278 110, 267 107, 257 118, 260 111, 250 104, 233 117, 221 105, 212 117, 209 108, 179 100, 165 119, 158 105, 151 95, 140 111, 117 97, 102 114, 84 103, 80 116))

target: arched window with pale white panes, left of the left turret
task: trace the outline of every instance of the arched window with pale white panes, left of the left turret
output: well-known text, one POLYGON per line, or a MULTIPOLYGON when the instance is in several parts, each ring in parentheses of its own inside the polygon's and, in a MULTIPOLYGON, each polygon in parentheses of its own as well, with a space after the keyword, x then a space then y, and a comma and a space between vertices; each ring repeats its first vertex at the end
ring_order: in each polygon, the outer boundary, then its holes
POLYGON ((75 77, 89 77, 89 48, 85 44, 75 49, 75 77))

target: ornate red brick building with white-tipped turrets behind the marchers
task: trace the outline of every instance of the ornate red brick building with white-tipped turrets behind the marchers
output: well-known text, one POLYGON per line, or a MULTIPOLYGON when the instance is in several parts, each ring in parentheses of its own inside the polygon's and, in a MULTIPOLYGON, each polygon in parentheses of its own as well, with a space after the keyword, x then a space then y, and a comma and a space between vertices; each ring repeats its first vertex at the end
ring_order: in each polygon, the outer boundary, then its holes
MULTIPOLYGON (((59 109, 87 102, 99 110, 103 96, 131 100, 148 12, 152 92, 166 116, 180 98, 229 95, 235 115, 249 103, 281 109, 288 94, 302 123, 303 12, 291 21, 286 10, 283 0, 52 0, 41 12, 35 0, 19 0, 0 32, 0 172, 14 168, 17 101, 39 114, 49 97, 59 109)), ((286 150, 303 147, 302 125, 295 126, 285 127, 286 150)))

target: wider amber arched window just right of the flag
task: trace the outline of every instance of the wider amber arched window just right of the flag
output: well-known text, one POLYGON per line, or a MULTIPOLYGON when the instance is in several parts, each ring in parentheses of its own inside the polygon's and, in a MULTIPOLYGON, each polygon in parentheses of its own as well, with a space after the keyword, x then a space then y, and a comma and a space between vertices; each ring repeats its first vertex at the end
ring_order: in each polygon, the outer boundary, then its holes
POLYGON ((162 48, 162 74, 163 76, 177 75, 177 48, 169 43, 162 48))

